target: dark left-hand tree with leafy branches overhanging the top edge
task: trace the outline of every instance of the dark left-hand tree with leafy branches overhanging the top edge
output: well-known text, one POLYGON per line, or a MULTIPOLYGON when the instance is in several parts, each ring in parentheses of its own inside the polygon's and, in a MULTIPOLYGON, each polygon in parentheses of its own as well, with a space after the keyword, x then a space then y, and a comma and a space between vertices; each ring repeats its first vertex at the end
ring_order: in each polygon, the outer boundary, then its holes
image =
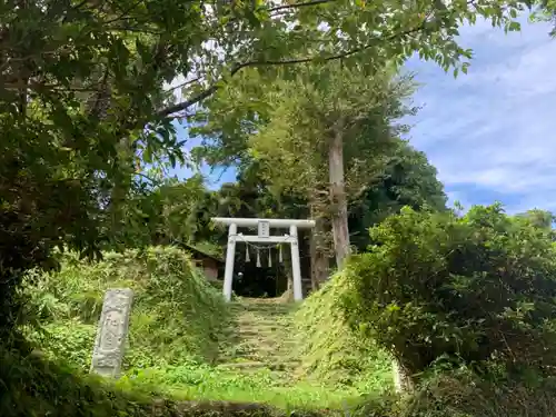
MULTIPOLYGON (((152 163, 185 162, 175 118, 203 108, 206 102, 196 105, 242 69, 260 68, 271 82, 277 67, 291 63, 341 59, 346 67, 373 62, 379 69, 415 51, 449 69, 470 58, 455 39, 464 21, 484 16, 512 29, 523 9, 513 0, 416 2, 399 10, 390 1, 304 6, 180 0, 0 6, 2 337, 13 329, 14 295, 24 274, 51 266, 56 247, 95 257, 107 241, 125 245, 133 235, 126 230, 127 215, 135 211, 127 202, 151 188, 138 173, 152 163), (367 26, 375 29, 359 29, 367 26), (166 86, 180 77, 190 82, 180 86, 176 103, 166 86)), ((249 113, 256 118, 258 111, 249 113)))

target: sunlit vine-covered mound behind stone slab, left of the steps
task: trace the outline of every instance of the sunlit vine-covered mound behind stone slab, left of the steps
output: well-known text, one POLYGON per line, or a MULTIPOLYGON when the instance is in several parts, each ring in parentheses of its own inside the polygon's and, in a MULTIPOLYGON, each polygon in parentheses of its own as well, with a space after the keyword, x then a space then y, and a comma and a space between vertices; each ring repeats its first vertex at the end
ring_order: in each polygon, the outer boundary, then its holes
POLYGON ((99 262, 64 255, 60 272, 29 279, 27 314, 34 310, 39 326, 28 337, 88 370, 105 291, 118 287, 135 290, 126 368, 216 357, 227 307, 177 248, 108 252, 99 262))

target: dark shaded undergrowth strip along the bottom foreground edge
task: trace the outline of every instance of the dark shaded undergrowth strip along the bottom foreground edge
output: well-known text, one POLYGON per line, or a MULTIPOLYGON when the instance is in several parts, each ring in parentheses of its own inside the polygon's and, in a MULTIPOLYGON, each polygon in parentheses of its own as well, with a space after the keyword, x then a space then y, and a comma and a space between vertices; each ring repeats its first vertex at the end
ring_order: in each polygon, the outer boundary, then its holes
MULTIPOLYGON (((556 387, 552 379, 543 384, 515 381, 485 381, 468 371, 444 373, 426 380, 414 395, 401 398, 391 394, 370 395, 357 404, 338 401, 338 409, 289 408, 289 411, 260 404, 235 401, 185 401, 162 399, 156 393, 160 381, 172 381, 168 375, 151 379, 152 384, 120 381, 118 386, 91 376, 76 375, 73 368, 47 361, 36 356, 21 356, 19 351, 0 350, 2 388, 0 414, 3 417, 28 415, 63 417, 277 417, 277 416, 360 416, 360 417, 550 417, 555 416, 556 387), (31 414, 32 411, 32 414, 31 414)), ((192 371, 192 369, 182 369, 192 371)), ((186 377, 186 373, 180 374, 186 377)), ((193 371, 193 375, 195 371, 193 371)), ((197 374, 198 376, 198 374, 197 374)), ((219 377, 220 375, 216 375, 219 377)), ((249 377, 245 386, 252 386, 249 377)), ((237 383, 236 383, 237 384, 237 383)), ((275 401, 285 393, 276 393, 275 401)), ((254 393, 255 394, 255 393, 254 393)), ((259 393, 257 393, 259 394, 259 393)), ((307 394, 307 391, 305 391, 307 394)), ((322 394, 322 393, 321 393, 322 394)), ((328 393, 330 394, 330 393, 328 393)), ((306 397, 307 398, 307 397, 306 397)), ((239 398, 249 400, 248 397, 239 398)), ((281 398, 284 403, 284 398, 281 398)))

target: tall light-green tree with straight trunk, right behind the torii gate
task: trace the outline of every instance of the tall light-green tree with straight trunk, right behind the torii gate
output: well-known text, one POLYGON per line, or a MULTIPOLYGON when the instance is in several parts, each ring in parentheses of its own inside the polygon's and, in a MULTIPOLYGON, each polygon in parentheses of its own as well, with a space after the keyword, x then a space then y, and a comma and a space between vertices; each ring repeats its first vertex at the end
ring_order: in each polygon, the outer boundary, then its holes
POLYGON ((403 105, 411 92, 410 79, 388 68, 310 67, 269 95, 269 122, 251 137, 275 183, 326 208, 339 268, 350 251, 348 200, 360 198, 394 155, 405 128, 396 120, 413 111, 403 105))

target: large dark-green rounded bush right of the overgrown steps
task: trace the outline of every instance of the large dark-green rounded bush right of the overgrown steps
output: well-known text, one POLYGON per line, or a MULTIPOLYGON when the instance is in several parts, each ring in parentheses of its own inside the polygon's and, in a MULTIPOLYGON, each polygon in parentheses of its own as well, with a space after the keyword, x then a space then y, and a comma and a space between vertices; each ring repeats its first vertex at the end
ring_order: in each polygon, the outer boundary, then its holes
POLYGON ((404 209, 370 236, 376 246, 346 269, 342 309, 408 371, 441 357, 510 371, 556 365, 550 230, 495 205, 463 217, 404 209))

